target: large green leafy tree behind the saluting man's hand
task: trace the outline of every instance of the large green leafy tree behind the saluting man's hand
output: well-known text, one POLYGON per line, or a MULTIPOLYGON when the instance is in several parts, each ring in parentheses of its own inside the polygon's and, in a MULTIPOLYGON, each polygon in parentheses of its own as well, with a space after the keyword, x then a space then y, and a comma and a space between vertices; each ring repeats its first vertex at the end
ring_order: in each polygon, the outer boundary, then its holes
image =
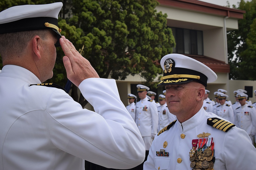
MULTIPOLYGON (((20 1, 21 2, 21 1, 20 1)), ((43 4, 52 1, 26 1, 43 4)), ((159 60, 172 53, 175 40, 167 15, 157 12, 156 0, 66 0, 59 18, 61 34, 87 58, 101 78, 124 80, 139 74, 150 84, 162 69, 159 60)), ((54 77, 48 82, 65 86, 63 51, 57 49, 54 77)), ((86 101, 72 86, 74 100, 86 101)))

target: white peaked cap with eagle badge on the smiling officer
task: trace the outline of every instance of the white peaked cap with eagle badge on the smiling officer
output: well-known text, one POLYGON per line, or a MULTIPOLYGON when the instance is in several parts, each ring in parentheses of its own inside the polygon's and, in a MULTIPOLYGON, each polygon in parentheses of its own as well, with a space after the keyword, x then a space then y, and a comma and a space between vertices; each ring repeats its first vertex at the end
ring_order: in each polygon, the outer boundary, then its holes
POLYGON ((157 87, 197 81, 205 87, 217 80, 217 75, 205 64, 182 54, 167 54, 160 61, 163 77, 157 87))

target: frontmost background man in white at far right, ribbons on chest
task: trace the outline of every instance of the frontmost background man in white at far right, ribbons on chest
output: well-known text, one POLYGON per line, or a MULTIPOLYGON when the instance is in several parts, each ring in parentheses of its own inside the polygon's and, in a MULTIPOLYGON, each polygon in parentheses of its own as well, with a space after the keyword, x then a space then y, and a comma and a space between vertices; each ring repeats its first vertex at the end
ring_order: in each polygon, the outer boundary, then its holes
POLYGON ((247 94, 238 93, 237 98, 241 104, 234 113, 235 113, 235 123, 237 127, 244 129, 254 143, 254 136, 256 135, 256 110, 254 107, 246 104, 248 98, 247 94))

